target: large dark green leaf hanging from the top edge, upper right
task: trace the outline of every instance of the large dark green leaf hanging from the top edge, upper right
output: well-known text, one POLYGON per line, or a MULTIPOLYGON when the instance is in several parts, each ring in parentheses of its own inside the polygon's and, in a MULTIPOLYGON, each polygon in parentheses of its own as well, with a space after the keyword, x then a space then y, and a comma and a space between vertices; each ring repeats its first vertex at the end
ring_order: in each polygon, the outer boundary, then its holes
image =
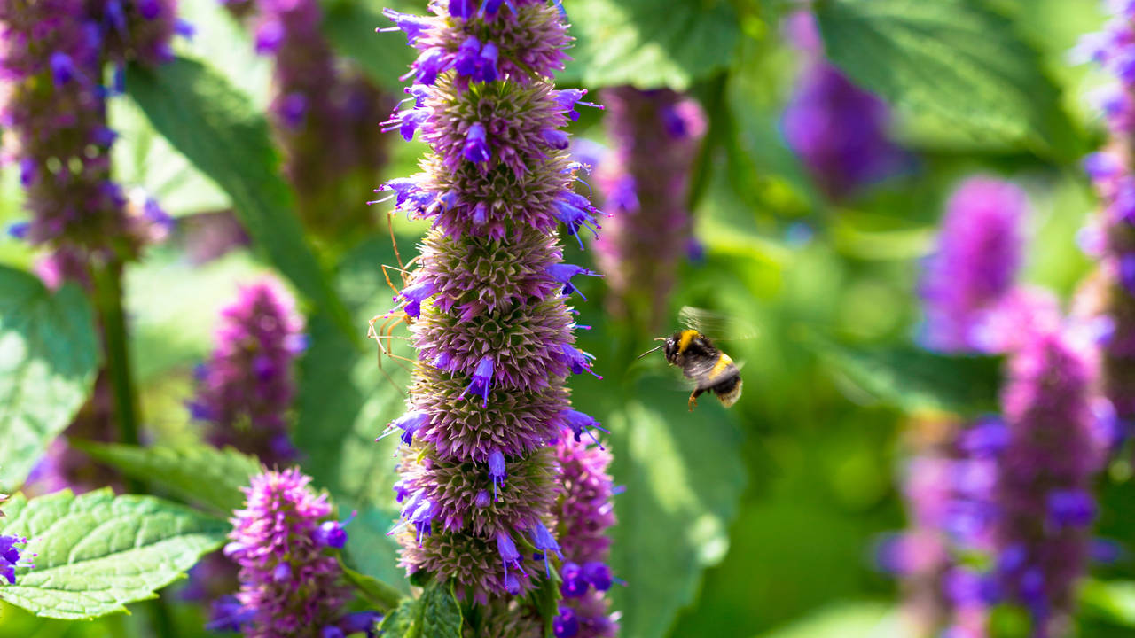
POLYGON ((894 104, 1073 159, 1082 142, 1037 52, 978 0, 825 0, 829 58, 894 104))

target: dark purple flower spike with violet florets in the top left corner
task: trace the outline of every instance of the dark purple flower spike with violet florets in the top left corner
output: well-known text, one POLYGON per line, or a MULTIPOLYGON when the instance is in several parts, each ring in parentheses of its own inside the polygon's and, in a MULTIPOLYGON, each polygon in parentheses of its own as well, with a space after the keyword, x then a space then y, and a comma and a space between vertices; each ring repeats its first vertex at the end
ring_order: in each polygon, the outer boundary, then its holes
POLYGON ((173 0, 11 0, 0 6, 2 161, 18 167, 31 220, 9 233, 53 251, 49 283, 84 279, 89 255, 132 259, 170 220, 110 178, 107 99, 124 65, 173 58, 173 0), (108 65, 111 86, 102 84, 108 65), (134 201, 132 201, 134 200, 134 201), (155 228, 157 226, 157 228, 155 228))

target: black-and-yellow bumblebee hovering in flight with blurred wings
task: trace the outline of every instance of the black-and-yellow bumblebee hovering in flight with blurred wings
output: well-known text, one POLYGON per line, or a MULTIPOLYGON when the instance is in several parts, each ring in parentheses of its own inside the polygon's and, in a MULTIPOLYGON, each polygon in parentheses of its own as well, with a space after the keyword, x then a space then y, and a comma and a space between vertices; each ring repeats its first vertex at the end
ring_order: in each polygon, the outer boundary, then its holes
POLYGON ((706 392, 716 394, 725 408, 733 405, 741 397, 741 370, 728 354, 717 350, 706 333, 720 335, 717 338, 740 339, 756 331, 748 325, 697 308, 682 308, 679 317, 686 328, 670 337, 656 338, 665 343, 644 352, 639 359, 665 349, 666 361, 680 368, 693 384, 690 412, 697 408, 698 396, 706 392))

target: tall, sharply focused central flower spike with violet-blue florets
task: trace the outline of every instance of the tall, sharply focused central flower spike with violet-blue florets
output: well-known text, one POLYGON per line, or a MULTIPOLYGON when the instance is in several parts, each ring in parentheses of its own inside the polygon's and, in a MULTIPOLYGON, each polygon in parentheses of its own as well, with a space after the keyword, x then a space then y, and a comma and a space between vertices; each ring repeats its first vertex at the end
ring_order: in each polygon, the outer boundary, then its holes
MULTIPOLYGON (((395 297, 419 361, 410 411, 390 425, 412 448, 392 534, 410 573, 452 580, 461 599, 485 608, 503 601, 514 612, 510 631, 523 630, 518 622, 539 631, 526 594, 561 569, 568 542, 552 532, 563 489, 555 445, 602 430, 564 387, 591 368, 573 345, 565 299, 574 277, 594 272, 562 263, 556 233, 563 224, 582 245, 597 227, 598 211, 572 190, 581 166, 561 131, 587 103, 552 83, 570 42, 558 7, 448 0, 430 9, 386 11, 390 31, 419 51, 410 96, 388 126, 432 150, 423 173, 381 188, 394 191, 396 210, 432 221, 420 267, 395 297)), ((558 636, 586 631, 564 622, 558 636)))

